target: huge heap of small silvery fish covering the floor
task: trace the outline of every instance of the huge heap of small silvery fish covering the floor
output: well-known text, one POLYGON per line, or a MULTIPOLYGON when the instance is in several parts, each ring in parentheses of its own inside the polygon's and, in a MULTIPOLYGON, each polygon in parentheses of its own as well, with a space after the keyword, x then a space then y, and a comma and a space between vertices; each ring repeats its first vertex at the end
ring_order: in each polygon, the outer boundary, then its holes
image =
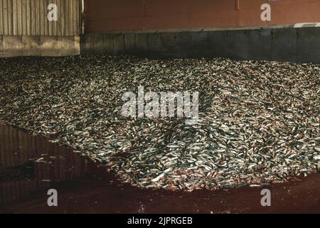
POLYGON ((137 187, 218 189, 320 169, 320 65, 129 56, 0 59, 0 121, 137 187), (124 117, 122 95, 198 91, 199 120, 124 117))

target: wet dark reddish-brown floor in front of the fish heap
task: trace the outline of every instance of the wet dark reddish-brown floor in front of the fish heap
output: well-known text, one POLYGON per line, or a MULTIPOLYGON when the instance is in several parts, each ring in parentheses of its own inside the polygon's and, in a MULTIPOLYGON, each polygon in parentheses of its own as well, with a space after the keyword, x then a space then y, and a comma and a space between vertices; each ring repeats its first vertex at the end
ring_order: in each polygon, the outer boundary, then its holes
POLYGON ((320 174, 265 187, 141 190, 69 147, 0 125, 0 213, 320 213, 320 174), (58 207, 48 207, 50 188, 58 207), (264 188, 271 207, 260 204, 264 188))

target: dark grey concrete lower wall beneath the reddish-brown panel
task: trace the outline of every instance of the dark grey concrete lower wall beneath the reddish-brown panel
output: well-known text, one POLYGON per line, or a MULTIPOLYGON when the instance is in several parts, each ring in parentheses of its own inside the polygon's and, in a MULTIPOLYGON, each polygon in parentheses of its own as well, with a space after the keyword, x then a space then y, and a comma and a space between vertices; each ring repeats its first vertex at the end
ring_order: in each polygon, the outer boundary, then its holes
POLYGON ((320 63, 320 27, 166 33, 87 33, 81 54, 149 58, 225 57, 236 60, 320 63))

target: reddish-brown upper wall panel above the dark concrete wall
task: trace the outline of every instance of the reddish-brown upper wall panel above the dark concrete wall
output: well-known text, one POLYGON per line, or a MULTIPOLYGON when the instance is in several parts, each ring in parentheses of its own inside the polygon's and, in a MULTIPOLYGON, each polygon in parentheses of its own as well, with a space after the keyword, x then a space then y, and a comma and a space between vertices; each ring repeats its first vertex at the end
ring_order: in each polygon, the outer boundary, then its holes
POLYGON ((85 32, 311 23, 319 9, 320 0, 85 0, 85 32), (272 21, 260 19, 264 3, 272 21))

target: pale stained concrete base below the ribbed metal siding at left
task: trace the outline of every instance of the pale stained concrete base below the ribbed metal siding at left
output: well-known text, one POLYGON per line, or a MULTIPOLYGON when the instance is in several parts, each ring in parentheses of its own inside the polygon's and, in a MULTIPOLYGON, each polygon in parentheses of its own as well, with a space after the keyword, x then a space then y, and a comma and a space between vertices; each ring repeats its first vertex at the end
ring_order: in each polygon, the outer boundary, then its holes
POLYGON ((79 54, 78 36, 0 36, 0 57, 79 54))

